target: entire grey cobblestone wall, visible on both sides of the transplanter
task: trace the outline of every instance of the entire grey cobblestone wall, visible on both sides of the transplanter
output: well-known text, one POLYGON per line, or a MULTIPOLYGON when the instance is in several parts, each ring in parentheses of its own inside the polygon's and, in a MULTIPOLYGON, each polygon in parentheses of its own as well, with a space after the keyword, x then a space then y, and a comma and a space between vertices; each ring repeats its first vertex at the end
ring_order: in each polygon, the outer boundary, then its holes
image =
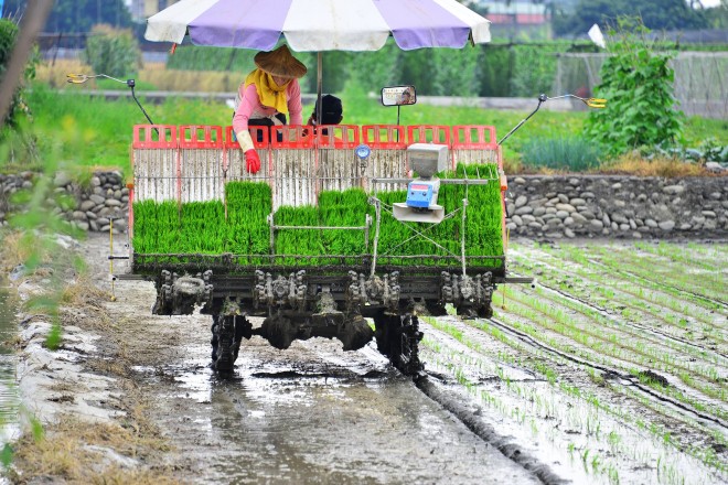
MULTIPOLYGON (((12 211, 10 195, 33 186, 34 175, 0 175, 0 225, 12 211)), ((99 172, 83 185, 64 174, 56 194, 69 195, 49 208, 84 230, 127 229, 129 190, 119 172, 99 172)), ((508 179, 507 227, 512 237, 726 238, 728 176, 659 179, 634 176, 545 176, 508 179)))

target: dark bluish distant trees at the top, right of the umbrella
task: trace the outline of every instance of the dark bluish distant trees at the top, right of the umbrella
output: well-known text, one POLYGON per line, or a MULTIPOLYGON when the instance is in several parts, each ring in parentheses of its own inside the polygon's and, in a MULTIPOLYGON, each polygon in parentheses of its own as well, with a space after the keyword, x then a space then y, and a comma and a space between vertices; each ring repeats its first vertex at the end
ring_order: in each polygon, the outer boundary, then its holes
POLYGON ((693 10, 685 0, 579 0, 570 15, 555 15, 557 35, 584 35, 591 25, 607 30, 618 17, 640 17, 650 30, 703 29, 708 25, 703 10, 693 10))

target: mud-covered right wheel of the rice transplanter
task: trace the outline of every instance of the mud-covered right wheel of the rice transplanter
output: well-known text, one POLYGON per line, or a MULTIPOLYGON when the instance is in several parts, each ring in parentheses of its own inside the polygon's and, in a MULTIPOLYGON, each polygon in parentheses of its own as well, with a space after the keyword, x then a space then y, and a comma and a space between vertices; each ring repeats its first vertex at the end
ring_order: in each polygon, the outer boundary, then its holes
POLYGON ((417 316, 383 314, 374 319, 374 324, 377 349, 393 366, 407 376, 415 376, 425 368, 419 360, 422 333, 417 316))

